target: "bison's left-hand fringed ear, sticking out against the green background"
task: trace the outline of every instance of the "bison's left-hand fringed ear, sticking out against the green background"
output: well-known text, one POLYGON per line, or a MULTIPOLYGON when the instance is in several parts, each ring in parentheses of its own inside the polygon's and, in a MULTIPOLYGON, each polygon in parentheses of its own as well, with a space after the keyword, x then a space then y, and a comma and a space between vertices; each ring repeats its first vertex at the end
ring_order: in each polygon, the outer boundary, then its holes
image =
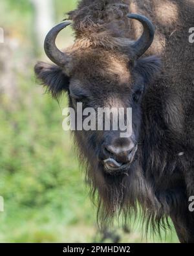
POLYGON ((63 91, 69 89, 69 77, 57 65, 38 62, 34 71, 38 80, 47 87, 47 91, 57 99, 63 91))

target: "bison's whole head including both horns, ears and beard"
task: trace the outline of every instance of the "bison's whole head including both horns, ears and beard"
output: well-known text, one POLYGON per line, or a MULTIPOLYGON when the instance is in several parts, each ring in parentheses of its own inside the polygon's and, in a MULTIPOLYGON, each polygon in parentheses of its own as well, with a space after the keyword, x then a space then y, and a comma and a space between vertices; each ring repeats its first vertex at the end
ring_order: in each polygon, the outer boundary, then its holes
POLYGON ((98 191, 99 209, 102 209, 99 213, 104 219, 113 216, 116 209, 121 209, 130 200, 134 206, 138 186, 142 186, 140 177, 137 178, 140 176, 138 151, 142 104, 147 87, 160 66, 155 56, 140 58, 153 41, 153 25, 144 16, 130 14, 128 17, 137 19, 144 27, 137 41, 107 36, 103 43, 83 43, 85 38, 80 38, 66 52, 59 51, 55 40, 59 31, 70 23, 65 21, 57 25, 45 40, 45 52, 56 65, 39 62, 35 67, 36 75, 52 96, 67 92, 69 106, 75 110, 77 102, 83 103, 83 110, 88 107, 133 110, 130 137, 120 137, 120 130, 74 132, 81 159, 87 165, 87 181, 93 195, 98 191), (136 194, 131 195, 129 190, 136 194))

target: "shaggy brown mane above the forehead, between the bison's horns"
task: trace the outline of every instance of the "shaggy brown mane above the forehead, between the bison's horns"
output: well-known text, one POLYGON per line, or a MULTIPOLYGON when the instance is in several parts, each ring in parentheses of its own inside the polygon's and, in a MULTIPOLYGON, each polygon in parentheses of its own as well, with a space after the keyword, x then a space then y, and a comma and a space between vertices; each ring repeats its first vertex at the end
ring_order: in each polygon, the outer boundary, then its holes
POLYGON ((75 34, 74 47, 103 47, 131 53, 128 0, 82 0, 69 12, 75 34))

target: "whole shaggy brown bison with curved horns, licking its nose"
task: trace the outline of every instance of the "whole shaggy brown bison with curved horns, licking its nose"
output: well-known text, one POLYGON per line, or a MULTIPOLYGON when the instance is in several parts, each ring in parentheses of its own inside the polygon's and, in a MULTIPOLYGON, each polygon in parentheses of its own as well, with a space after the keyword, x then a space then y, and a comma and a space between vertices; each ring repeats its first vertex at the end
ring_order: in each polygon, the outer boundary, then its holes
POLYGON ((35 73, 54 98, 133 110, 130 137, 73 132, 100 226, 121 213, 127 222, 140 205, 147 228, 160 232, 170 217, 180 242, 194 242, 193 13, 193 0, 82 0, 69 12, 72 47, 55 43, 69 21, 47 34, 55 65, 38 62, 35 73))

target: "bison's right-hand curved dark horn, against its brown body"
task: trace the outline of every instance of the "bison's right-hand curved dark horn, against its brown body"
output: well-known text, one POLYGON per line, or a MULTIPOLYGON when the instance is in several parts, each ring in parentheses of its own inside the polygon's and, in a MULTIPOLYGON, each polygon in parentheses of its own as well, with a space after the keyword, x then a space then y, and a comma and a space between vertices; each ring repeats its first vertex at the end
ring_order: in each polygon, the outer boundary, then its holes
POLYGON ((140 23, 142 23, 144 27, 144 32, 142 36, 131 45, 131 47, 135 51, 135 57, 140 58, 140 56, 142 56, 144 52, 147 51, 147 49, 153 42, 155 36, 155 27, 153 26, 151 21, 149 21, 149 19, 147 19, 147 17, 145 16, 139 14, 128 14, 127 17, 140 21, 140 23))

